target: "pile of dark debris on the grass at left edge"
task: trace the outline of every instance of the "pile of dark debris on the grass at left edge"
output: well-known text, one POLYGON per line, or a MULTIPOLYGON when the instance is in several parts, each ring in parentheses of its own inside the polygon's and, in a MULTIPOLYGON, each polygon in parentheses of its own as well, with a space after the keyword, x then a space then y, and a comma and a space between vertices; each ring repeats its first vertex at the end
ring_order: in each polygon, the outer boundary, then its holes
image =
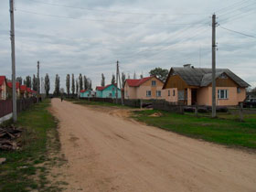
POLYGON ((0 127, 0 150, 16 150, 21 146, 21 142, 17 142, 16 138, 20 137, 21 128, 14 125, 8 127, 0 127))

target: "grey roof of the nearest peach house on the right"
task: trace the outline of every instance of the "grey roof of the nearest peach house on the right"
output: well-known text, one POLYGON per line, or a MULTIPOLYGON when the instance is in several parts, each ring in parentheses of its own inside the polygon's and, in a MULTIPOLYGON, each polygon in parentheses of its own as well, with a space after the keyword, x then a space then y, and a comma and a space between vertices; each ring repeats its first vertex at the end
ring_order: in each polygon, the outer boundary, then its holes
MULTIPOLYGON (((216 69, 216 78, 225 73, 231 80, 234 80, 240 87, 249 87, 250 85, 241 80, 236 74, 229 69, 216 69)), ((206 68, 172 68, 168 74, 167 80, 171 75, 178 75, 182 80, 186 81, 189 86, 205 87, 212 82, 212 69, 206 68)), ((164 89, 165 89, 164 85, 164 89)))

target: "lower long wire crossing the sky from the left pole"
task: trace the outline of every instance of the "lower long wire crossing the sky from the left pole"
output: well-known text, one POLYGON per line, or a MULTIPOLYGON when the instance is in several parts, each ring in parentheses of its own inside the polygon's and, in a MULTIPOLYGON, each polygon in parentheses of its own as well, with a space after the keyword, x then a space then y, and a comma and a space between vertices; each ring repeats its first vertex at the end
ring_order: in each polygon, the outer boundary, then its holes
POLYGON ((140 22, 123 22, 123 21, 112 21, 112 20, 101 20, 101 19, 87 19, 87 18, 75 18, 70 16, 57 16, 57 15, 50 15, 50 14, 39 14, 36 12, 31 12, 27 10, 22 9, 16 9, 19 12, 27 13, 27 14, 33 14, 38 16, 52 16, 52 17, 59 17, 59 18, 69 18, 69 19, 75 19, 75 20, 84 20, 84 21, 92 21, 92 22, 103 22, 103 23, 118 23, 118 24, 131 24, 131 25, 141 25, 141 24, 150 24, 154 26, 161 26, 161 25, 170 25, 170 26, 196 26, 199 24, 175 24, 175 23, 166 23, 166 24, 151 24, 151 23, 140 23, 140 22))

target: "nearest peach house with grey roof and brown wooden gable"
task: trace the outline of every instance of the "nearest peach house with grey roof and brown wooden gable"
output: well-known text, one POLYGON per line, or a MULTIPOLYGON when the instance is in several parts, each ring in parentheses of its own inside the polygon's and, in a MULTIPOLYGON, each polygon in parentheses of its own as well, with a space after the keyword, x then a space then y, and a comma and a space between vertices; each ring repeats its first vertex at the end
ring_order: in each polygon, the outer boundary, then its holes
MULTIPOLYGON (((212 69, 171 68, 163 90, 165 100, 186 105, 212 105, 212 69)), ((229 69, 216 69, 216 103, 218 106, 235 106, 246 98, 250 85, 229 69)))

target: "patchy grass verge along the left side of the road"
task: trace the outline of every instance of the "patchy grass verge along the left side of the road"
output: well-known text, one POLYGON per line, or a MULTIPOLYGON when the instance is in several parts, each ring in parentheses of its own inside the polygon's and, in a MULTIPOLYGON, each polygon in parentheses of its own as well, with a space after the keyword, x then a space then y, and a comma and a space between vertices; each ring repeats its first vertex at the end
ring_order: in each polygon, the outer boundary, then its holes
POLYGON ((57 122, 48 112, 49 105, 50 101, 45 100, 18 114, 16 126, 25 129, 19 138, 23 147, 18 151, 0 151, 0 157, 6 158, 5 164, 0 165, 0 191, 48 191, 47 168, 41 164, 49 161, 49 147, 59 151, 60 146, 57 122), (54 142, 49 142, 49 135, 54 142))

